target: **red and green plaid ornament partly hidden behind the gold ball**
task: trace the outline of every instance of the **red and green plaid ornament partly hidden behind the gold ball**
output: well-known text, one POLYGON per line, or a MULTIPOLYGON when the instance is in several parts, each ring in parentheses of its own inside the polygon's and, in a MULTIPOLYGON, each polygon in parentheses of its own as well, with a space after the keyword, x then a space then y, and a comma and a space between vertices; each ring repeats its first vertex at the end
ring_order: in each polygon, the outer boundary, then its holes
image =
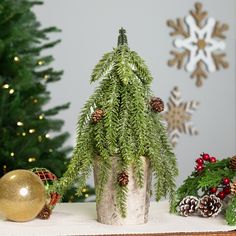
POLYGON ((59 202, 61 196, 58 193, 50 192, 50 185, 52 185, 53 182, 57 180, 57 176, 46 168, 33 168, 31 169, 31 171, 38 175, 39 178, 43 181, 48 195, 46 205, 51 209, 54 208, 55 205, 59 202))

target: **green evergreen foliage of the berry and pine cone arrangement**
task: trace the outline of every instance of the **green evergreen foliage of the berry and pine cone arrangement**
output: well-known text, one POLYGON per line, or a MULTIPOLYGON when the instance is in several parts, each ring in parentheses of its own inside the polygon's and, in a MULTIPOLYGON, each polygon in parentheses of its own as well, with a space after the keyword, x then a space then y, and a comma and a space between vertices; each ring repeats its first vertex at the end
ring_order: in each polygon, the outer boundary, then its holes
POLYGON ((214 162, 207 161, 203 164, 202 170, 197 170, 196 168, 177 189, 171 202, 170 211, 181 214, 181 212, 178 212, 178 207, 183 199, 192 196, 201 199, 203 196, 214 194, 222 202, 225 202, 223 204, 225 208, 223 212, 225 213, 227 223, 229 225, 236 225, 236 193, 231 189, 225 195, 220 195, 224 189, 230 189, 230 185, 235 181, 236 174, 235 169, 230 165, 231 160, 232 158, 214 160, 214 162), (224 184, 225 178, 230 183, 224 184), (214 192, 211 191, 212 188, 215 189, 214 192))

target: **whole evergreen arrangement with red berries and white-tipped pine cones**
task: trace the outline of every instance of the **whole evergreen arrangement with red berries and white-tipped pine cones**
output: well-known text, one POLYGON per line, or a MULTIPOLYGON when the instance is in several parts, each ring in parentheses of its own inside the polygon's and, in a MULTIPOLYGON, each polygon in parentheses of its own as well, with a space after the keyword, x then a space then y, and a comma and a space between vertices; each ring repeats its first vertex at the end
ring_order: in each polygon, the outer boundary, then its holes
POLYGON ((195 170, 176 191, 171 211, 207 218, 223 213, 229 225, 236 225, 236 156, 217 160, 201 154, 195 170))

